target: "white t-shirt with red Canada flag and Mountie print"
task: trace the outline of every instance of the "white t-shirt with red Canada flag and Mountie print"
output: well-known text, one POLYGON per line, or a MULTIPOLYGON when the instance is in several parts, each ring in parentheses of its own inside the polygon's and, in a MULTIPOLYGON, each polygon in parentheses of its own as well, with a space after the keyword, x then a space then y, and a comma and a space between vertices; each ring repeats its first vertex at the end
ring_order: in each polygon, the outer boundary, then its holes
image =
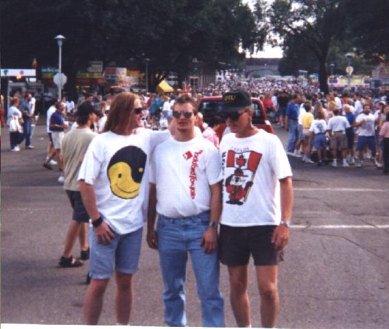
POLYGON ((228 226, 279 225, 279 180, 292 176, 279 138, 264 130, 247 138, 227 134, 220 143, 220 155, 223 166, 220 222, 228 226))

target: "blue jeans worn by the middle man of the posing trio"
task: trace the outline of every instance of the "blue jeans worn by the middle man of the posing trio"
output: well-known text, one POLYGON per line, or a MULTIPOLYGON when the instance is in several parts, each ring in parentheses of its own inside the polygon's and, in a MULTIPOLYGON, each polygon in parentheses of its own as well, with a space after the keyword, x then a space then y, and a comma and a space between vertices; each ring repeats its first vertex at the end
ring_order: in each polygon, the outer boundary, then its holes
POLYGON ((196 276, 201 302, 202 326, 224 327, 223 296, 219 291, 220 265, 217 252, 206 254, 200 241, 208 229, 209 212, 186 218, 159 215, 158 252, 165 289, 165 323, 187 325, 185 315, 185 279, 188 252, 196 276))

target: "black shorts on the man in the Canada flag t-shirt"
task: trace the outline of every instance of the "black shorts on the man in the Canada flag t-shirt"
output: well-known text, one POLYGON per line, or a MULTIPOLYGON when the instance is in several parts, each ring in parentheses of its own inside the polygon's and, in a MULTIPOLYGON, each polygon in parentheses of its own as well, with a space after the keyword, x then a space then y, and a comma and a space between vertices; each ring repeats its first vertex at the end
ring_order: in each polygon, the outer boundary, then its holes
POLYGON ((279 253, 272 235, 276 226, 233 227, 220 225, 219 258, 228 266, 248 265, 250 255, 255 266, 277 265, 279 253))

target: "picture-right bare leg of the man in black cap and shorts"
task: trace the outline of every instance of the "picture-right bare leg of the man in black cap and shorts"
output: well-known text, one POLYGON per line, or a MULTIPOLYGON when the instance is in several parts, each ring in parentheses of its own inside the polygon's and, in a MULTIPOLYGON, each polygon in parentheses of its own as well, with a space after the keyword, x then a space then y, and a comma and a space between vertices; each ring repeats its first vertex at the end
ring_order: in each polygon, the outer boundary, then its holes
POLYGON ((263 328, 274 328, 279 310, 277 267, 257 266, 257 282, 261 295, 261 321, 263 328))

